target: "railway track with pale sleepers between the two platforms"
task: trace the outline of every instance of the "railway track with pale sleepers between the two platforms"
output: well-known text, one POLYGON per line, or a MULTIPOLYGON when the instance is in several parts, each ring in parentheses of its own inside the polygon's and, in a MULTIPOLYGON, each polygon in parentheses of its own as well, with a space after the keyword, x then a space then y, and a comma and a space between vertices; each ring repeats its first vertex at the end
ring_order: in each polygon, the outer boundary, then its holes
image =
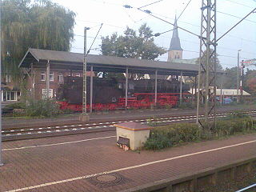
MULTIPOLYGON (((256 116, 256 110, 243 111, 245 114, 256 116)), ((218 118, 226 117, 230 112, 222 112, 216 114, 218 118)), ((202 117, 203 115, 200 115, 202 117)), ((210 115, 212 118, 212 115, 210 115)), ((159 126, 167 125, 175 122, 194 122, 195 115, 181 115, 181 116, 163 116, 158 118, 134 118, 120 121, 105 121, 105 122, 86 122, 86 123, 72 123, 66 125, 52 125, 52 126, 31 126, 22 128, 5 128, 2 130, 2 141, 14 141, 29 138, 46 138, 63 136, 70 134, 85 134, 91 132, 104 132, 115 130, 114 124, 122 122, 141 122, 156 123, 159 126)))

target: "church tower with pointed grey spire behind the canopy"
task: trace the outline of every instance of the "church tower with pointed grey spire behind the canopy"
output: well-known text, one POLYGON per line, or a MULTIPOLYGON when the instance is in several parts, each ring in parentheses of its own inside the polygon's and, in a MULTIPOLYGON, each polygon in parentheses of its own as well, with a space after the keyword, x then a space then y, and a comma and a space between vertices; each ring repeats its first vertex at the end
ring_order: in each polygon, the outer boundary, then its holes
POLYGON ((172 59, 175 58, 182 58, 182 47, 181 42, 178 38, 178 27, 177 27, 177 19, 175 16, 175 22, 174 22, 174 30, 173 30, 173 36, 170 41, 170 48, 168 50, 168 59, 167 62, 170 62, 172 59))

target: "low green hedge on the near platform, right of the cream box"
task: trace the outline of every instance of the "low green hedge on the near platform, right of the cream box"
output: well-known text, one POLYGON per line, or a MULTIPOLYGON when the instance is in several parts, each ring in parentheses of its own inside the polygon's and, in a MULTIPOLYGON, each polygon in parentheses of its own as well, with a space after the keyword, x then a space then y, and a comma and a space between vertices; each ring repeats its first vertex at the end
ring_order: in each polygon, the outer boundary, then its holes
POLYGON ((212 130, 207 127, 202 129, 195 123, 177 123, 155 127, 150 131, 150 138, 144 145, 145 149, 161 150, 184 142, 222 138, 232 134, 256 131, 256 120, 250 117, 238 118, 238 116, 218 120, 216 127, 212 130))

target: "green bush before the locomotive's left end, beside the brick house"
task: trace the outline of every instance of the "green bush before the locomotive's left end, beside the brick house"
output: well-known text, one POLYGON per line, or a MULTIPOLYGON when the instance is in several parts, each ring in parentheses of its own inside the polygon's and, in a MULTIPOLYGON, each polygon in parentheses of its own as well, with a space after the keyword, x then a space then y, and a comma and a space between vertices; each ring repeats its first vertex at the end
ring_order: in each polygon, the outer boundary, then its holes
POLYGON ((60 114, 58 103, 51 99, 30 100, 26 107, 28 117, 47 118, 60 114))

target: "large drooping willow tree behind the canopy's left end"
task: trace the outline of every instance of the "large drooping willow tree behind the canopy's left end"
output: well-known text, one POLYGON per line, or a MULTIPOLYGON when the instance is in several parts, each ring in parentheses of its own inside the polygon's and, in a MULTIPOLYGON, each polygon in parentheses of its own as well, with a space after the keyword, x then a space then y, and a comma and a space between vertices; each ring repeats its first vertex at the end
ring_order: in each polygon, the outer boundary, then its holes
POLYGON ((1 8, 3 74, 11 74, 16 82, 18 63, 29 47, 70 50, 73 11, 50 0, 3 0, 1 8))

